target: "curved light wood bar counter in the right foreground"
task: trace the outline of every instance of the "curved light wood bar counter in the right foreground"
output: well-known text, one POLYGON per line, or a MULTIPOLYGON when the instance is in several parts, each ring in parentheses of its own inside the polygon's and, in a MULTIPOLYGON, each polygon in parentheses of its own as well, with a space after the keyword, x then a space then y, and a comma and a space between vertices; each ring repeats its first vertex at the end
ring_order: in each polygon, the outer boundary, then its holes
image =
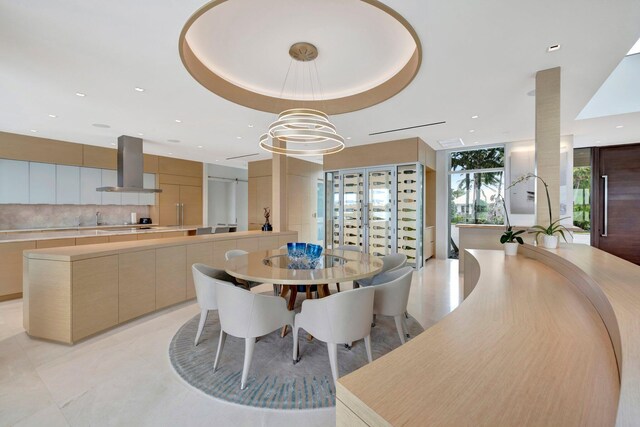
POLYGON ((640 267, 586 245, 467 250, 465 301, 338 380, 337 424, 634 425, 640 267))

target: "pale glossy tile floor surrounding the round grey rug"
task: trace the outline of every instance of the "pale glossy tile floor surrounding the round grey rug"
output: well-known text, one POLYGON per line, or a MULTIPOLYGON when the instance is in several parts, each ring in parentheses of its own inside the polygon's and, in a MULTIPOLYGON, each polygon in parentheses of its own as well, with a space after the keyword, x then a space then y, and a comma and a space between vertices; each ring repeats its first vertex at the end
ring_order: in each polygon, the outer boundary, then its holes
MULTIPOLYGON (((425 328, 433 325, 459 304, 460 286, 457 261, 430 260, 414 273, 409 313, 425 328)), ((185 384, 170 366, 168 346, 197 313, 195 302, 184 303, 66 346, 25 334, 22 300, 0 303, 0 426, 335 424, 333 409, 252 409, 185 384)))

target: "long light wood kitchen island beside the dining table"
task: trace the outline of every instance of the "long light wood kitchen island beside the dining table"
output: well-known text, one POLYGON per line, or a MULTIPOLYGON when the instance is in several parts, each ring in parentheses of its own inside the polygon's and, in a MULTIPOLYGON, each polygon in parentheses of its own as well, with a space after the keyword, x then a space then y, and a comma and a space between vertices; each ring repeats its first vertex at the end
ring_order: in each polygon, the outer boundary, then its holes
POLYGON ((24 251, 24 328, 73 344, 195 297, 191 265, 230 249, 277 249, 296 232, 246 231, 24 251))

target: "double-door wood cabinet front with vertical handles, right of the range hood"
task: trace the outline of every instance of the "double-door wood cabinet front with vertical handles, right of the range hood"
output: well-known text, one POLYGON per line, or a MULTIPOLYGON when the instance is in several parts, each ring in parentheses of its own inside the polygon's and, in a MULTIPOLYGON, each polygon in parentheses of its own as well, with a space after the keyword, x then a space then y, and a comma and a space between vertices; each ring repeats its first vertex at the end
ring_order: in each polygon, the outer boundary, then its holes
POLYGON ((161 184, 160 225, 202 224, 202 187, 161 184))

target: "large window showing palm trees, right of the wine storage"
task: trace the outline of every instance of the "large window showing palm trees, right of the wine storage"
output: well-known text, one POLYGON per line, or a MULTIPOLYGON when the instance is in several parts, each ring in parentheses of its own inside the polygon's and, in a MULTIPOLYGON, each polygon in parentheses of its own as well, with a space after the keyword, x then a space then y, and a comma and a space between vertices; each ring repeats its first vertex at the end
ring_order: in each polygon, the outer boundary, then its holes
POLYGON ((449 258, 458 258, 457 224, 504 224, 504 147, 449 154, 449 258))

